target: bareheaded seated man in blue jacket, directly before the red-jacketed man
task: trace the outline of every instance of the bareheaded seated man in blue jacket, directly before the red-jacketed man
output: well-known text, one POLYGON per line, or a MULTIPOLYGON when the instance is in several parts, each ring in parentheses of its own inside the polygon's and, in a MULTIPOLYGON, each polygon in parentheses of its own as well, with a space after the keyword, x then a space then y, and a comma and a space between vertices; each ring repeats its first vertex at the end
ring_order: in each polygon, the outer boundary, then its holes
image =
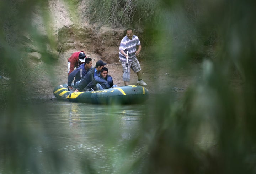
POLYGON ((77 87, 82 79, 82 77, 84 77, 88 71, 91 69, 92 67, 92 59, 87 57, 85 59, 84 64, 81 64, 78 66, 78 68, 76 68, 74 71, 72 71, 69 76, 68 76, 68 88, 70 90, 73 89, 73 87, 71 86, 74 77, 75 77, 75 81, 74 81, 74 87, 77 87))

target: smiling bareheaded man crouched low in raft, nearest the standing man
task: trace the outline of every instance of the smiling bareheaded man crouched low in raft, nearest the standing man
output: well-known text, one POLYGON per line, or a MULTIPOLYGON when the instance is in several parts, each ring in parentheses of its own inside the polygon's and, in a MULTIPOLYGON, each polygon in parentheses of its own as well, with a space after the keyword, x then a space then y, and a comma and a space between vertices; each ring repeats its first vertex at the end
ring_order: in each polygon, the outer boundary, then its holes
POLYGON ((108 75, 108 68, 104 67, 101 69, 101 73, 92 79, 92 81, 85 87, 87 89, 102 90, 117 87, 114 85, 113 79, 108 75))

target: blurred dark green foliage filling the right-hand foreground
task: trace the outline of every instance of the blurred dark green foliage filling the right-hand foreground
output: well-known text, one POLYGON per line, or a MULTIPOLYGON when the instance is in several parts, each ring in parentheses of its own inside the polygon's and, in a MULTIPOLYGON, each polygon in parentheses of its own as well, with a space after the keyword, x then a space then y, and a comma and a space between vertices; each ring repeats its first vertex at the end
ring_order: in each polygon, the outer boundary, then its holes
POLYGON ((165 8, 183 14, 183 23, 166 21, 158 43, 167 43, 164 37, 171 33, 163 60, 176 60, 180 64, 172 66, 182 67, 199 58, 202 79, 190 86, 176 110, 166 100, 170 94, 155 102, 158 112, 152 117, 162 123, 151 139, 146 171, 255 173, 255 2, 184 2, 180 8, 171 3, 165 8))

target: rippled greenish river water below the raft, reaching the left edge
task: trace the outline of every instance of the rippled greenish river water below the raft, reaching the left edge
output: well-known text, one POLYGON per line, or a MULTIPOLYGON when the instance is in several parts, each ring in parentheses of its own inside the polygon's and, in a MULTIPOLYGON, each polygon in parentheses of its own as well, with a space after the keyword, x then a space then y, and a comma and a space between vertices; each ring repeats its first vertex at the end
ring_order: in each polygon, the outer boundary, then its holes
MULTIPOLYGON (((0 174, 143 173, 154 131, 177 127, 168 116, 175 97, 169 106, 168 97, 149 101, 94 105, 53 99, 8 108, 0 118, 0 174)), ((196 144, 206 149, 212 140, 205 130, 196 144)), ((173 132, 172 138, 181 136, 173 132)))

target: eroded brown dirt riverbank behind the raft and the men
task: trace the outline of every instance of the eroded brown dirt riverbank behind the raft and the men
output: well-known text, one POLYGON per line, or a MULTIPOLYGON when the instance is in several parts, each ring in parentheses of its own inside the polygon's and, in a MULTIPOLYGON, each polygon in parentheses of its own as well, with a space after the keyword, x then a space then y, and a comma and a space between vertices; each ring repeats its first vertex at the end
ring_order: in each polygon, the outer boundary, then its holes
MULTIPOLYGON (((78 14, 86 11, 87 0, 81 2, 78 14)), ((51 32, 58 43, 54 52, 55 63, 46 64, 42 61, 42 56, 34 52, 30 58, 32 72, 27 79, 31 84, 28 91, 28 98, 55 98, 53 89, 55 86, 67 82, 67 62, 72 53, 85 51, 87 57, 93 59, 93 65, 97 60, 103 60, 107 63, 109 74, 113 77, 117 86, 123 86, 122 65, 119 63, 119 43, 124 36, 125 28, 111 28, 107 25, 90 25, 86 16, 71 17, 71 12, 63 0, 49 1, 49 11, 53 22, 51 32)), ((47 27, 43 24, 40 17, 40 10, 34 13, 33 23, 42 35, 47 34, 47 27)), ((49 27, 48 27, 49 28, 49 27)), ((50 47, 50 46, 49 46, 50 47)), ((143 43, 142 43, 143 51, 143 43)), ((145 55, 145 54, 142 54, 145 55)), ((198 70, 190 72, 171 72, 164 62, 149 62, 143 57, 138 57, 142 66, 143 80, 148 84, 146 87, 150 93, 155 92, 180 92, 183 93, 186 88, 195 80, 200 78, 198 70), (166 90, 167 89, 167 90, 166 90)), ((137 75, 132 72, 129 85, 136 84, 137 75)))

